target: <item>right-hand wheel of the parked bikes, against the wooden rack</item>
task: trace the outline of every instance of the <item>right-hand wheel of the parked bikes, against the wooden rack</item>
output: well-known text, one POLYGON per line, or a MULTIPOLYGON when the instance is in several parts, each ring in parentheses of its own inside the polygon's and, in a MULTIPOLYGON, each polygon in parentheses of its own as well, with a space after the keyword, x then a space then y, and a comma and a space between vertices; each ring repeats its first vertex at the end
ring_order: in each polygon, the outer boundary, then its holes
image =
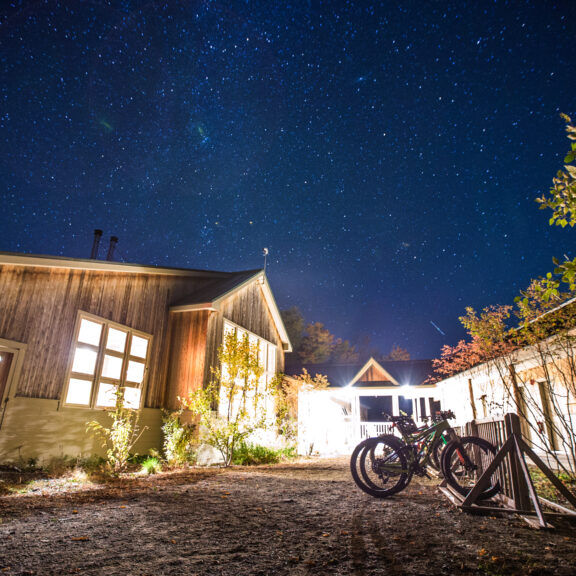
MULTIPOLYGON (((462 496, 468 495, 476 485, 483 471, 494 459, 496 448, 483 438, 464 436, 450 442, 442 452, 442 474, 449 486, 462 496), (464 454, 472 467, 466 465, 464 454)), ((490 484, 480 493, 478 498, 486 500, 500 492, 497 471, 490 478, 490 484)))

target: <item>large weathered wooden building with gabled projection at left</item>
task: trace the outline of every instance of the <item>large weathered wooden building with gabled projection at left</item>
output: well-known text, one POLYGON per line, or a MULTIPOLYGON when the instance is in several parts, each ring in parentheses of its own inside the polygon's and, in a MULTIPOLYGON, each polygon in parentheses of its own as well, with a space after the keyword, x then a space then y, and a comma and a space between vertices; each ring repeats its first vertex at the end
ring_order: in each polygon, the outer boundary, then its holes
POLYGON ((214 272, 0 253, 0 462, 90 455, 120 386, 161 444, 162 409, 204 386, 226 324, 266 371, 291 350, 262 270, 214 272))

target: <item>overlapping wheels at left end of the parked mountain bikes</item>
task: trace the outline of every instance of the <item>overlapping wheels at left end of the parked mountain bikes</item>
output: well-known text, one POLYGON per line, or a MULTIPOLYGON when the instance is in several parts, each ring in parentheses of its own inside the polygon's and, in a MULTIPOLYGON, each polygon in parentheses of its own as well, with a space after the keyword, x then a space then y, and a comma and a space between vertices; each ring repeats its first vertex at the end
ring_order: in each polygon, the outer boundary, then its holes
POLYGON ((387 498, 403 490, 410 479, 404 448, 393 436, 360 442, 350 458, 350 471, 356 485, 376 498, 387 498))

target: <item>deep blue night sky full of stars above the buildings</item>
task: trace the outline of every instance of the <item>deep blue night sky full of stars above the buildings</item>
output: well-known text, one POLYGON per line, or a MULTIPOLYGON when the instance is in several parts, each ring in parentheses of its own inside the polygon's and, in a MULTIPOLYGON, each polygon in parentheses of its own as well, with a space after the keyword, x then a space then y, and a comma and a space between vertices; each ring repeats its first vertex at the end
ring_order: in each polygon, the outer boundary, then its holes
POLYGON ((576 231, 573 0, 3 0, 0 250, 244 270, 413 358, 576 231))

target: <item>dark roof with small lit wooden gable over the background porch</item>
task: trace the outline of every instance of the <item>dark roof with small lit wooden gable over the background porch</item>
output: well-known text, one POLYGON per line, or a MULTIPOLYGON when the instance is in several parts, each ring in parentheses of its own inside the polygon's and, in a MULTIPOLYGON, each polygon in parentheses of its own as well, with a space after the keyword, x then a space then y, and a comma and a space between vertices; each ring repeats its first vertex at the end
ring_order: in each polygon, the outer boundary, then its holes
POLYGON ((286 372, 292 376, 302 373, 306 368, 311 376, 322 374, 328 378, 330 388, 388 387, 388 386, 422 386, 432 374, 432 360, 383 360, 370 358, 364 364, 326 363, 326 364, 289 364, 286 372), (376 379, 362 380, 369 374, 376 379))

